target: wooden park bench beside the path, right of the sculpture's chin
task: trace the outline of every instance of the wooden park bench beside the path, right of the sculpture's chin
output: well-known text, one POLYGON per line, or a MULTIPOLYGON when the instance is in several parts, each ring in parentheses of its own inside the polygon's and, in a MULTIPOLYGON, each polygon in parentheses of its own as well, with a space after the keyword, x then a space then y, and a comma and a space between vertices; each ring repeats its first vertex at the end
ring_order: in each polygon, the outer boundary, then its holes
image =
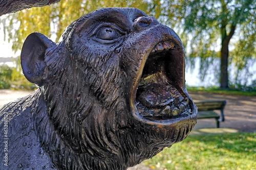
POLYGON ((198 119, 200 118, 215 118, 216 127, 220 127, 220 122, 224 122, 224 107, 226 101, 201 101, 195 102, 198 107, 198 119), (214 110, 220 110, 220 114, 216 113, 214 110))

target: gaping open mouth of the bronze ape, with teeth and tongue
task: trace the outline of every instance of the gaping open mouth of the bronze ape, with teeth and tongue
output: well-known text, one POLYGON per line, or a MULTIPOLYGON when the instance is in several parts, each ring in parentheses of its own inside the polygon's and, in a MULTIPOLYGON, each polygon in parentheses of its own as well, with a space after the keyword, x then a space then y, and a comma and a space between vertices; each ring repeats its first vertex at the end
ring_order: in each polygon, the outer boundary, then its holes
POLYGON ((161 41, 148 55, 135 97, 139 117, 174 123, 192 115, 194 104, 184 87, 184 56, 177 41, 161 41))

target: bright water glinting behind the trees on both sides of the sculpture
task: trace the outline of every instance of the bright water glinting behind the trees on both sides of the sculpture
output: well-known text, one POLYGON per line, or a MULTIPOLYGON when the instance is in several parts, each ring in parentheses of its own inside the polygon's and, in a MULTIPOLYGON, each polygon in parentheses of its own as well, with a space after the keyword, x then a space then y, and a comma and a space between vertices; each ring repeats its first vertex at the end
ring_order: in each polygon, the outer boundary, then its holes
MULTIPOLYGON (((4 58, 0 57, 0 65, 7 64, 9 66, 16 66, 18 58, 4 58)), ((187 86, 194 87, 208 87, 208 86, 220 86, 219 78, 220 78, 220 59, 214 58, 211 59, 212 63, 203 70, 200 70, 200 58, 194 58, 194 64, 191 65, 191 62, 186 61, 186 72, 185 72, 185 80, 187 86), (202 80, 202 74, 200 72, 204 72, 205 77, 202 80)), ((256 81, 256 62, 252 60, 248 63, 248 68, 244 68, 241 70, 238 80, 241 85, 251 86, 252 83, 256 81), (254 81, 254 82, 253 82, 254 81)), ((233 64, 231 64, 228 68, 229 71, 229 81, 231 84, 236 82, 236 68, 233 64)))

